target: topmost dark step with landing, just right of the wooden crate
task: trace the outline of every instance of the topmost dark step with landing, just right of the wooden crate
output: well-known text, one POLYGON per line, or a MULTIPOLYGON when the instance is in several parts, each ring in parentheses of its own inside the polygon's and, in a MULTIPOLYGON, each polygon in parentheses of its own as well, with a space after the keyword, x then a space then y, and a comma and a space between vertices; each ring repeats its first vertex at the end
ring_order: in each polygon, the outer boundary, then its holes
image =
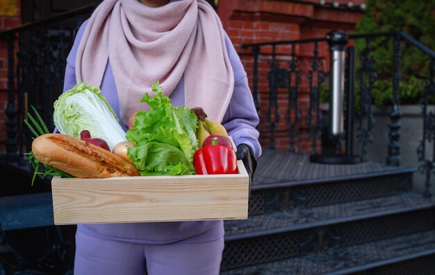
POLYGON ((249 215, 397 195, 412 189, 413 172, 416 168, 371 162, 310 163, 305 154, 265 150, 254 175, 249 215))

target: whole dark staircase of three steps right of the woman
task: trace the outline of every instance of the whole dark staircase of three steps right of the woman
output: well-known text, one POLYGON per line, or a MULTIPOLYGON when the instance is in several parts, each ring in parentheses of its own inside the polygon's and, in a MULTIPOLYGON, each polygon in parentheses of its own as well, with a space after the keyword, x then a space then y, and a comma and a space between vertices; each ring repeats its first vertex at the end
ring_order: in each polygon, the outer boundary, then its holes
POLYGON ((413 172, 264 150, 249 219, 224 223, 221 275, 435 274, 435 199, 413 172))

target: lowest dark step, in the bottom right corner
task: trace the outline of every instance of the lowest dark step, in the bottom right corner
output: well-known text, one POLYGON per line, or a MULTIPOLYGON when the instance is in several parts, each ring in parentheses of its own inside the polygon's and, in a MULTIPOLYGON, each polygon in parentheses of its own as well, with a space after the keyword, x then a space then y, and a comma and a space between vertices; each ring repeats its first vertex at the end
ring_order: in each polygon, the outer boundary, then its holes
POLYGON ((223 270, 221 275, 418 274, 435 270, 435 230, 223 270))

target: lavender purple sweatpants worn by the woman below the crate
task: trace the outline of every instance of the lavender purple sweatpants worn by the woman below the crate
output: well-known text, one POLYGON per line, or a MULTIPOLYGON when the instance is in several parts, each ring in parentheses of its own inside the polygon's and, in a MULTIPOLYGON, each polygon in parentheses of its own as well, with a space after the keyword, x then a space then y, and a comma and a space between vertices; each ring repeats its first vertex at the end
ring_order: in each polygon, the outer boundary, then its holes
POLYGON ((76 232, 74 275, 217 275, 224 238, 212 242, 143 245, 76 232), (145 264, 146 258, 146 264, 145 264))

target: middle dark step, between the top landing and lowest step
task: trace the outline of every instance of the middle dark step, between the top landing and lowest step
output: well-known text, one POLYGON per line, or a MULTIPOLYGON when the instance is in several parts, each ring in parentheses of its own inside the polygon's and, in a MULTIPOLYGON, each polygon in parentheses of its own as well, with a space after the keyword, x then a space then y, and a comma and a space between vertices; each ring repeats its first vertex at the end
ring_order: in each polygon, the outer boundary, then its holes
POLYGON ((222 269, 435 229, 435 199, 402 193, 225 221, 222 269))

